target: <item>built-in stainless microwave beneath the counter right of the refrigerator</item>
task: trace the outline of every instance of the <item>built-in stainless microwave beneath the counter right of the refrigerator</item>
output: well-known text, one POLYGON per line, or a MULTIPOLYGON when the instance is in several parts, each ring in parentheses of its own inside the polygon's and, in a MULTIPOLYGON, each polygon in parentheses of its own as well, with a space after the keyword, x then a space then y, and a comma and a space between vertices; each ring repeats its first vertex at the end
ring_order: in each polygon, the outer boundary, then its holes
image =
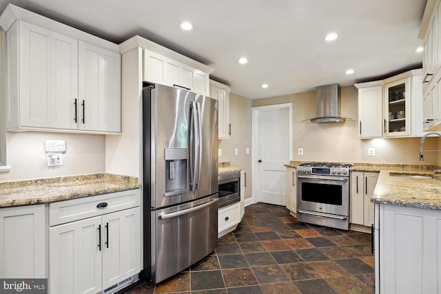
POLYGON ((227 207, 240 201, 240 172, 236 171, 218 176, 218 208, 227 207))

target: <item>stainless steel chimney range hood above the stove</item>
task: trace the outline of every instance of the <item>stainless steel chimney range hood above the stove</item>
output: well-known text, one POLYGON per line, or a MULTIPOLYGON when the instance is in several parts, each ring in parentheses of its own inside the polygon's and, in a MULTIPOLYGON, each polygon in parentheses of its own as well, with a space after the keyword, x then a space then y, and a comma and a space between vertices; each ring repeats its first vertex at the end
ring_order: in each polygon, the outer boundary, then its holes
POLYGON ((340 86, 338 84, 316 87, 316 114, 311 123, 345 123, 346 118, 338 115, 340 86))

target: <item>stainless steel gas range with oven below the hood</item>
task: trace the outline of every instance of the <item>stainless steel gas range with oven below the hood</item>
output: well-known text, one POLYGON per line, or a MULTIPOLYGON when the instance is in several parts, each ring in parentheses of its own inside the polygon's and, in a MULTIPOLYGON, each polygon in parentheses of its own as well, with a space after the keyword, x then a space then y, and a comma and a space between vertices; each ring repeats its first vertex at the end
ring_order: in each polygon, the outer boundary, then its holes
POLYGON ((349 230, 351 163, 307 162, 297 167, 297 220, 349 230))

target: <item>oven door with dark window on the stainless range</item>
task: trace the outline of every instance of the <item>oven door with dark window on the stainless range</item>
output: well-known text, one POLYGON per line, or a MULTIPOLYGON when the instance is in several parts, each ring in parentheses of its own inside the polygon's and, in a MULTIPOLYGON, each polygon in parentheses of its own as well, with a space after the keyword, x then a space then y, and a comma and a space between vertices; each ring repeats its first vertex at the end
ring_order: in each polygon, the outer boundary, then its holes
POLYGON ((297 176, 297 209, 349 216, 349 178, 297 176))

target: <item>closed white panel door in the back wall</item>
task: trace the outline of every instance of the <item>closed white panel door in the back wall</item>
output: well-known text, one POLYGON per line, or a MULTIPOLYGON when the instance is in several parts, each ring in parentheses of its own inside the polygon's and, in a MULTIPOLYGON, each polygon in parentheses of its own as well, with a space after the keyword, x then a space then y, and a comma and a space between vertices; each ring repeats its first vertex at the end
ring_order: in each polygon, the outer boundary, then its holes
POLYGON ((289 162, 289 108, 265 109, 258 114, 258 201, 286 205, 289 162))

